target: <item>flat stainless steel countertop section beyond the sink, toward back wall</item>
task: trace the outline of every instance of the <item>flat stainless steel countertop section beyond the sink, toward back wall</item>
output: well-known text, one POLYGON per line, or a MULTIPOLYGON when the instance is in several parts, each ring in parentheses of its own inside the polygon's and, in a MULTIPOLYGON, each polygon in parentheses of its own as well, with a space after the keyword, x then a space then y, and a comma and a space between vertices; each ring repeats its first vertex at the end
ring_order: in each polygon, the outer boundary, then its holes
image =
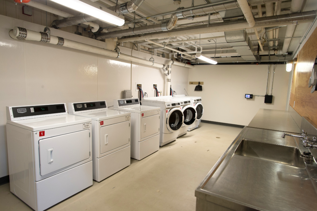
POLYGON ((301 133, 300 128, 288 111, 282 110, 259 109, 248 127, 301 133))

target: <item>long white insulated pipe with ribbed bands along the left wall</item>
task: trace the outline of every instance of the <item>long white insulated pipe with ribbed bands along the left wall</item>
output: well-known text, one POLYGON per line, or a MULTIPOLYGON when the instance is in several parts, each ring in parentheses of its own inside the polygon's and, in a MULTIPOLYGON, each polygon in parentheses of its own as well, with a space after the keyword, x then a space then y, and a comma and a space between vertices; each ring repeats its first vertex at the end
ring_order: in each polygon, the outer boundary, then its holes
MULTIPOLYGON (((11 38, 17 39, 16 37, 19 36, 19 28, 18 27, 14 27, 13 30, 11 30, 9 32, 9 35, 10 35, 11 38)), ((42 35, 41 35, 40 32, 27 30, 26 37, 24 37, 24 39, 25 40, 41 41, 42 40, 42 35)), ((49 43, 50 44, 54 44, 54 45, 63 46, 63 47, 69 47, 69 48, 73 48, 73 49, 77 49, 77 50, 81 50, 81 51, 86 51, 86 52, 91 52, 91 53, 98 53, 98 54, 109 56, 109 57, 113 57, 113 58, 120 58, 120 59, 123 59, 123 60, 126 60, 126 61, 137 62, 137 63, 140 63, 140 64, 149 65, 149 66, 152 66, 152 67, 158 67, 158 68, 165 67, 165 65, 157 63, 157 62, 152 62, 152 61, 149 61, 149 60, 146 60, 146 59, 140 59, 140 58, 137 58, 137 57, 134 57, 134 56, 130 56, 130 55, 126 55, 126 54, 123 54, 123 53, 120 53, 120 55, 119 55, 115 51, 106 50, 104 48, 87 45, 87 44, 84 44, 84 43, 80 43, 80 42, 76 42, 76 41, 73 41, 73 40, 68 40, 68 39, 56 37, 56 36, 53 36, 53 35, 50 35, 49 43)), ((194 66, 192 66, 192 65, 186 65, 185 67, 194 68, 194 66)))

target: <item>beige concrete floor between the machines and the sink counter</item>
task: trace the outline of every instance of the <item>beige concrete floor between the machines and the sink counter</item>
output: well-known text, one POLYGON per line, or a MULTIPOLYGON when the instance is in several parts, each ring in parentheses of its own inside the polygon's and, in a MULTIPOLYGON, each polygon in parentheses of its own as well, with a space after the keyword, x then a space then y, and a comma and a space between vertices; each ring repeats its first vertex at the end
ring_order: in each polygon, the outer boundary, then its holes
MULTIPOLYGON (((54 210, 195 210, 195 189, 242 129, 201 123, 158 152, 50 208, 54 210), (217 139, 216 137, 220 137, 217 139)), ((0 210, 32 210, 0 186, 0 210)))

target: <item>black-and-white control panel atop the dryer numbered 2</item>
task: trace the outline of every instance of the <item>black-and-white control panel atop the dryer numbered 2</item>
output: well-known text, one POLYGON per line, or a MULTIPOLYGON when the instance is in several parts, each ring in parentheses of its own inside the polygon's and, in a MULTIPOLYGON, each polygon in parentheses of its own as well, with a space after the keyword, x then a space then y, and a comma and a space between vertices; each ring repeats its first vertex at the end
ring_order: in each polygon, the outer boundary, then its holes
POLYGON ((95 102, 69 102, 68 103, 69 113, 83 113, 87 111, 99 111, 107 109, 106 101, 95 101, 95 102))

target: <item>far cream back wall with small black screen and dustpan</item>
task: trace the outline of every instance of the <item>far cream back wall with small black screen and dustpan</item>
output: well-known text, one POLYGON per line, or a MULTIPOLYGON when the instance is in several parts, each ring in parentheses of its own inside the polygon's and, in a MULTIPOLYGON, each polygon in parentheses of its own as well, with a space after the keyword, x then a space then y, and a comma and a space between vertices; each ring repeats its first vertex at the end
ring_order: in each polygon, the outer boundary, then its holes
POLYGON ((267 74, 268 65, 196 65, 190 70, 189 81, 204 82, 203 91, 194 91, 196 85, 189 85, 189 95, 202 97, 203 120, 248 125, 259 109, 285 110, 289 78, 286 65, 275 65, 272 104, 264 103, 260 96, 244 98, 245 94, 265 95, 267 74))

